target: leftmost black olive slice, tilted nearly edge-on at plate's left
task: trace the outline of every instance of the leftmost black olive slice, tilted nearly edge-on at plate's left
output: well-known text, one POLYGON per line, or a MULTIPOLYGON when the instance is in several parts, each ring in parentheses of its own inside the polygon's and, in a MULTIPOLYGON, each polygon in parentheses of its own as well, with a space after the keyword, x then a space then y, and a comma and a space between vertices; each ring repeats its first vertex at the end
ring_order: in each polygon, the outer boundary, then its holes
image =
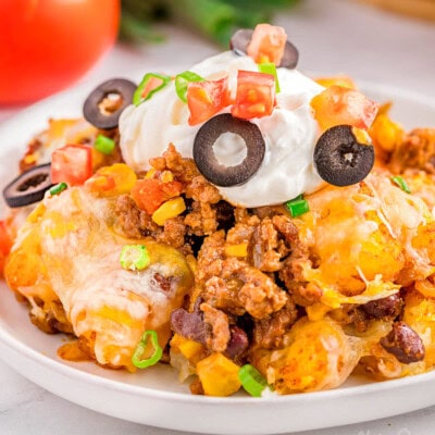
POLYGON ((51 163, 34 166, 20 174, 3 189, 3 198, 11 208, 38 202, 53 185, 51 183, 51 163))

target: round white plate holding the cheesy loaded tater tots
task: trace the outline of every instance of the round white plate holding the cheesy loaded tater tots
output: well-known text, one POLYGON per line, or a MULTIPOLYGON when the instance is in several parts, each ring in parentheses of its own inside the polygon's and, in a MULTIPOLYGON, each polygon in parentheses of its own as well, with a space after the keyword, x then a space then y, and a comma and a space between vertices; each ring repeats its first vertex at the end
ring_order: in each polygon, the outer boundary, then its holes
MULTIPOLYGON (((361 84, 361 83, 360 83, 361 84)), ((0 126, 0 184, 16 172, 26 141, 48 117, 77 116, 92 84, 47 99, 0 126)), ((431 126, 435 101, 373 84, 363 89, 377 101, 395 101, 394 117, 407 128, 431 126)), ((30 381, 75 403, 133 422, 213 434, 275 434, 375 420, 435 403, 435 372, 373 383, 352 377, 343 387, 270 398, 190 395, 169 366, 136 374, 57 357, 62 335, 45 335, 27 310, 0 283, 0 357, 30 381)))

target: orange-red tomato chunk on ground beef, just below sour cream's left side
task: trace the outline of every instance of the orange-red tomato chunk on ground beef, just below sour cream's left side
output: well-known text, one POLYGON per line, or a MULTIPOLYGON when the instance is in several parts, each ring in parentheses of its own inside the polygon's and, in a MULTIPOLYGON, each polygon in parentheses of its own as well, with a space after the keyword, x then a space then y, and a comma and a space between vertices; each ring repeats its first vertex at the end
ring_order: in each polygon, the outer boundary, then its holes
POLYGON ((158 178, 145 178, 136 182, 132 197, 139 209, 152 214, 164 201, 178 196, 181 191, 179 182, 163 183, 158 178))

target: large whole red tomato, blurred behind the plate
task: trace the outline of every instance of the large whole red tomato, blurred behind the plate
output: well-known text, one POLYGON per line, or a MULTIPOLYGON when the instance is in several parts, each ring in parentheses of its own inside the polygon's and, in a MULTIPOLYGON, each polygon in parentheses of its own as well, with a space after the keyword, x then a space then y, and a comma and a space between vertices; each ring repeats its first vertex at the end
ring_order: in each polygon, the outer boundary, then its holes
POLYGON ((0 103, 65 88, 114 42, 120 0, 1 0, 0 103))

